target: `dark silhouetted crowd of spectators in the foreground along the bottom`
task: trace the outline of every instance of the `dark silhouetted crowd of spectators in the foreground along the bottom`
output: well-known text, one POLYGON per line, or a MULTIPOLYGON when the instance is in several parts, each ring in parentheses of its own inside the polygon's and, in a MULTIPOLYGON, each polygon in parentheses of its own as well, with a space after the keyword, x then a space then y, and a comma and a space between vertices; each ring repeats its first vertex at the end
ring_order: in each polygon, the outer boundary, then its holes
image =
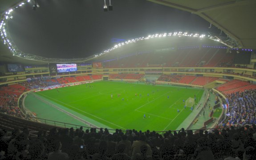
POLYGON ((255 160, 256 126, 207 132, 0 129, 0 160, 255 160))

